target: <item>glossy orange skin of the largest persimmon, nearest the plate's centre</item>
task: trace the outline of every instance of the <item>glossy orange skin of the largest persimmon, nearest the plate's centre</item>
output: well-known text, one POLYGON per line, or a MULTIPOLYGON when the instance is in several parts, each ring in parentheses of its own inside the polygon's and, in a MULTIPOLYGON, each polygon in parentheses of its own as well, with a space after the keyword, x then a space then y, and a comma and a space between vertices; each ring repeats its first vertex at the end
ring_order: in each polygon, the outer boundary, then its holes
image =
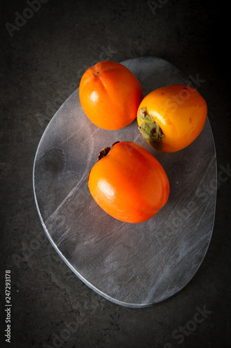
POLYGON ((88 187, 105 212, 128 223, 151 219, 169 198, 169 180, 160 162, 130 141, 112 145, 94 164, 88 187))

